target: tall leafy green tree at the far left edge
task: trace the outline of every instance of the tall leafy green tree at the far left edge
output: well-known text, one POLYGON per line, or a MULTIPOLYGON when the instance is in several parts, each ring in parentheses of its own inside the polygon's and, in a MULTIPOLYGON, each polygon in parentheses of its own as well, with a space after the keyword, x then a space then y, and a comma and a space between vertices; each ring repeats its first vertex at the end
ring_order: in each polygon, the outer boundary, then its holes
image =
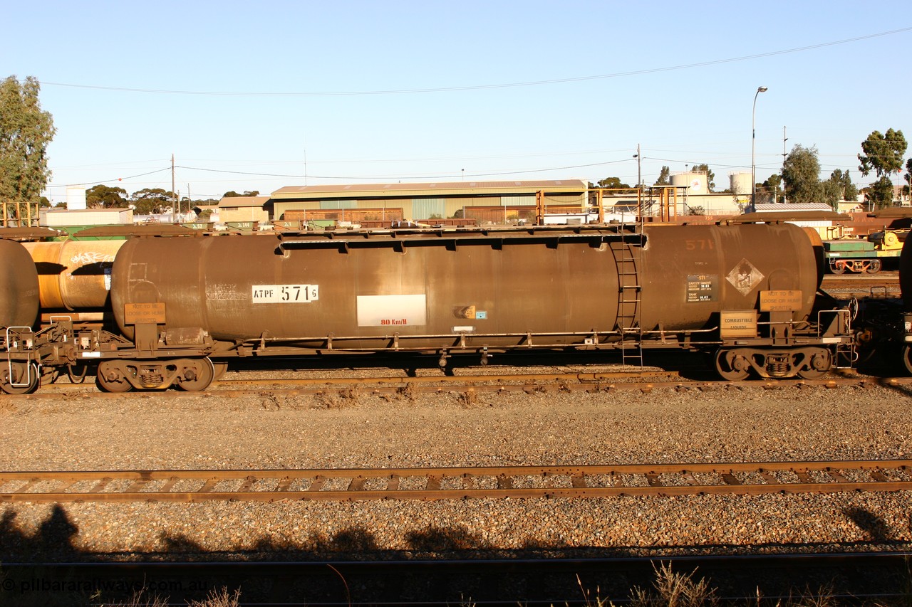
POLYGON ((15 203, 17 218, 19 204, 37 203, 51 176, 47 146, 57 129, 38 103, 40 89, 31 76, 22 84, 14 76, 0 83, 0 201, 15 203))

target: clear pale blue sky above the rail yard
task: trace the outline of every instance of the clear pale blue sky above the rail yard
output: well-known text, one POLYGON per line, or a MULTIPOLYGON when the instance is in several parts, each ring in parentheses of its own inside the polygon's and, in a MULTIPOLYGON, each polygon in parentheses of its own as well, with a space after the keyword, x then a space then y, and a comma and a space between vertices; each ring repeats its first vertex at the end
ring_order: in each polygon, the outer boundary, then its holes
POLYGON ((635 183, 637 144, 646 183, 705 162, 721 190, 751 169, 760 86, 758 181, 781 167, 783 127, 787 149, 817 147, 822 178, 859 186, 871 131, 912 141, 906 2, 52 0, 0 16, 0 77, 38 78, 57 126, 55 202, 67 184, 171 190, 171 154, 193 199, 635 183))

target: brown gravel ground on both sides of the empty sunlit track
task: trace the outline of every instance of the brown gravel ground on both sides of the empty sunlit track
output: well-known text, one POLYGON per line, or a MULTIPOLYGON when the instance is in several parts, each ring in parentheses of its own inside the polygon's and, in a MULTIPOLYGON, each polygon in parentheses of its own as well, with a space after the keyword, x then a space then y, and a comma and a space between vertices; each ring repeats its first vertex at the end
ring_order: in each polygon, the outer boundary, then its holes
MULTIPOLYGON (((496 370, 493 365, 486 368, 496 370)), ((224 379, 255 380, 261 374, 276 376, 275 371, 229 372, 224 379)), ((233 397, 220 395, 216 387, 177 398, 155 393, 102 398, 88 386, 75 390, 0 399, 0 469, 912 458, 908 385, 477 394, 403 390, 392 395, 360 388, 283 394, 262 386, 233 397)), ((637 557, 658 562, 673 556, 896 552, 912 550, 910 495, 854 491, 588 499, 16 502, 0 505, 0 544, 6 563, 637 557)), ((586 588, 598 585, 603 596, 614 592, 612 596, 624 598, 629 590, 623 576, 612 582, 597 572, 580 575, 586 588)), ((759 574, 758 588, 763 577, 759 574)), ((803 581, 806 589, 832 587, 840 592, 839 580, 827 574, 808 574, 803 581)), ((896 592, 910 581, 912 576, 874 581, 872 592, 896 592)), ((725 587, 724 581, 719 584, 725 587)), ((470 604, 472 583, 460 588, 470 604)), ((342 603, 377 598, 366 589, 347 592, 342 603)), ((556 596, 579 598, 578 588, 566 592, 570 594, 556 596)), ((246 597, 255 594, 248 587, 246 597)), ((310 602, 319 602, 317 594, 310 602)), ((523 599, 533 604, 522 591, 511 596, 520 604, 523 599)))

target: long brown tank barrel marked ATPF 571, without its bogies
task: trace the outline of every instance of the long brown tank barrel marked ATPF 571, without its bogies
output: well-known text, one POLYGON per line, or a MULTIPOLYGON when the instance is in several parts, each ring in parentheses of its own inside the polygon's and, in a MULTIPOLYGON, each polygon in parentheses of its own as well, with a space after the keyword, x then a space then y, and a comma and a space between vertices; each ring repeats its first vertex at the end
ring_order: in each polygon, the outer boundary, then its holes
POLYGON ((561 334, 547 344, 569 345, 581 337, 566 334, 625 326, 631 305, 646 330, 699 329, 782 290, 798 293, 793 317, 804 319, 818 285, 811 242, 790 224, 654 226, 623 239, 606 228, 233 235, 126 242, 111 303, 128 335, 124 305, 161 302, 167 328, 225 342, 316 347, 334 335, 377 348, 400 335, 436 348, 440 337, 421 336, 494 334, 495 346, 561 334))

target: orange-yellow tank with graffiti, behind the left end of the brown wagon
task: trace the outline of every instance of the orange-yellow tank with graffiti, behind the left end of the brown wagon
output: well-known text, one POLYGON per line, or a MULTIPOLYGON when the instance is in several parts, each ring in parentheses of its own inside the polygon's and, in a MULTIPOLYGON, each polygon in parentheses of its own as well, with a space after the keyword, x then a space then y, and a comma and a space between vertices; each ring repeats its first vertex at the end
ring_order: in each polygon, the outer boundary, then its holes
POLYGON ((104 307, 111 267, 124 241, 26 242, 38 272, 41 307, 83 310, 104 307))

